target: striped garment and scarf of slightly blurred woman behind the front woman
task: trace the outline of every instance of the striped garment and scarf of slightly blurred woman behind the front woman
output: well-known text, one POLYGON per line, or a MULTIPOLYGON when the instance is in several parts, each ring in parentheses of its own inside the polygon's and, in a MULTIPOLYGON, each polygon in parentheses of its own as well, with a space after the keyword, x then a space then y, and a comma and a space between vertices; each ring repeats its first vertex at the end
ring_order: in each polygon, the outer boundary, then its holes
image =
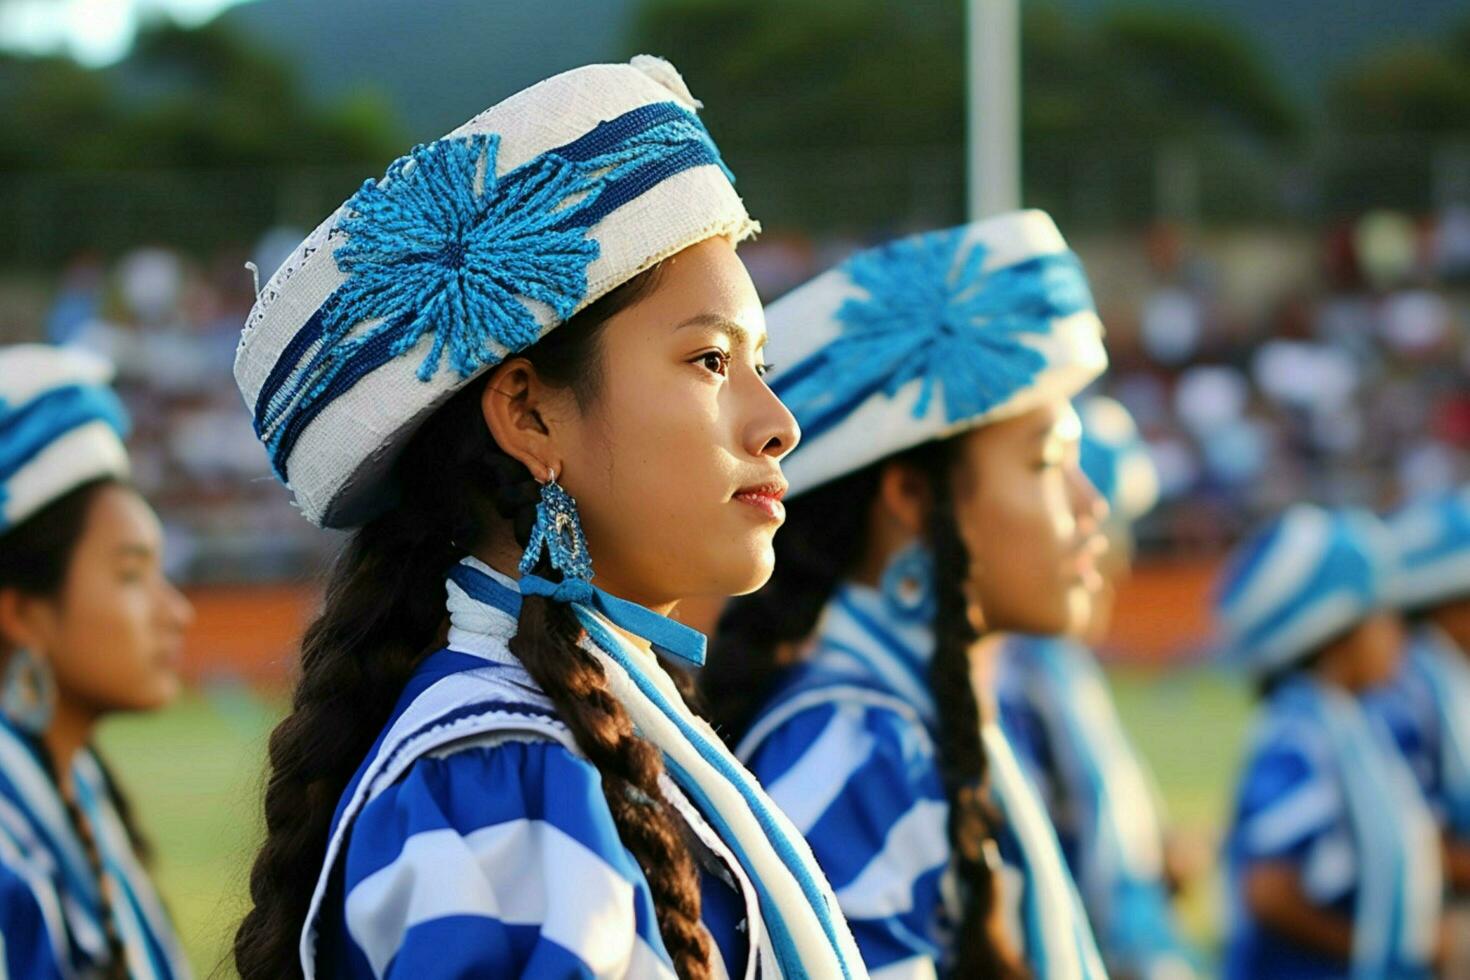
MULTIPOLYGON (((960 909, 933 741, 932 654, 928 626, 895 621, 875 589, 844 585, 810 658, 736 749, 806 835, 869 971, 883 980, 935 977, 960 909)), ((1104 976, 1041 804, 994 726, 985 745, 1010 824, 1003 851, 1019 865, 1011 877, 1022 890, 1005 898, 1028 961, 1039 977, 1104 976)))

